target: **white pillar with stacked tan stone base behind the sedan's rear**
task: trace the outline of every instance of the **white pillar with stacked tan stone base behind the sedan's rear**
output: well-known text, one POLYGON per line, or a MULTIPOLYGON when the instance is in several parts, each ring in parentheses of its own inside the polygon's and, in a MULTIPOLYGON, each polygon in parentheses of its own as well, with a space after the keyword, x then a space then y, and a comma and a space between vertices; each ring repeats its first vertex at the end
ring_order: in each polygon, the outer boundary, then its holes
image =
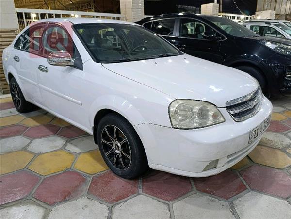
POLYGON ((3 71, 3 50, 15 39, 18 30, 14 0, 0 0, 0 93, 9 93, 3 71))

